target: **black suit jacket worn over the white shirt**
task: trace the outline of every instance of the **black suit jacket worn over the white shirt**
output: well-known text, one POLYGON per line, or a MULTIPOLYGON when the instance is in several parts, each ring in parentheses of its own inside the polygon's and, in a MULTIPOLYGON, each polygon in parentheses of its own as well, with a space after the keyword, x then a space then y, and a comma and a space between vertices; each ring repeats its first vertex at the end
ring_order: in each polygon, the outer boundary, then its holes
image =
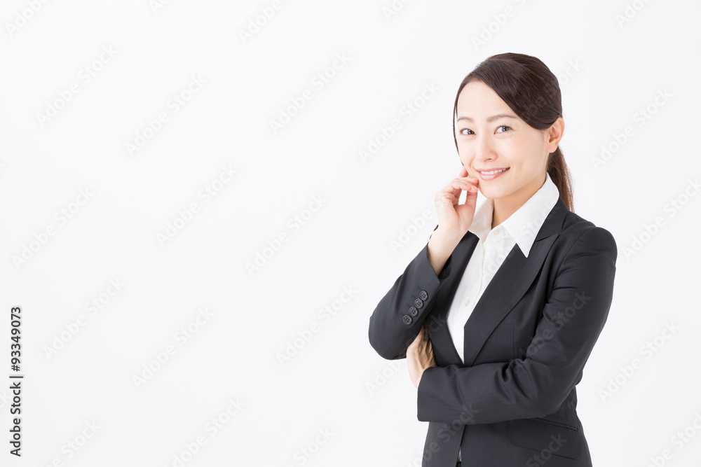
POLYGON ((446 316, 478 241, 467 232, 438 276, 427 243, 369 319, 370 344, 389 360, 428 326, 437 367, 418 386, 421 465, 454 467, 461 447, 463 467, 592 466, 575 386, 611 306, 613 235, 560 197, 528 258, 515 245, 479 298, 463 364, 446 316))

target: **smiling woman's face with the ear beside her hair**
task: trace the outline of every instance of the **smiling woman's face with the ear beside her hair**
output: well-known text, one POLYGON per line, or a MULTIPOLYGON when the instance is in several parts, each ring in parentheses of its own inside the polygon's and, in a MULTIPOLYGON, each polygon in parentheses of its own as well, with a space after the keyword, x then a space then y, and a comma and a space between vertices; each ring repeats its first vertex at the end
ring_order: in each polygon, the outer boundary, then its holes
POLYGON ((543 185, 547 155, 557 148, 564 122, 558 118, 550 132, 536 130, 489 86, 471 81, 458 96, 455 128, 460 160, 468 174, 479 180, 482 195, 521 203, 543 185), (480 173, 494 169, 506 170, 480 173))

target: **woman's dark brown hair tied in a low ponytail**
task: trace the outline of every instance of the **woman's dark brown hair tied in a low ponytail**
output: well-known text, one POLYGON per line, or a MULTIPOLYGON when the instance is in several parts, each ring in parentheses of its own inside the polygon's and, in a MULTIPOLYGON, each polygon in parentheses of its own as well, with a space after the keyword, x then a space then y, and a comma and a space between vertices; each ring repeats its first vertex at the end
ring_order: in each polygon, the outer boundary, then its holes
MULTIPOLYGON (((482 81, 489 86, 519 118, 536 130, 547 130, 562 117, 562 95, 557 78, 536 57, 520 53, 500 53, 480 62, 465 76, 455 96, 453 108, 453 138, 458 113, 458 96, 470 81, 482 81)), ((573 211, 572 181, 569 170, 557 146, 547 157, 547 173, 550 174, 567 209, 573 211)))

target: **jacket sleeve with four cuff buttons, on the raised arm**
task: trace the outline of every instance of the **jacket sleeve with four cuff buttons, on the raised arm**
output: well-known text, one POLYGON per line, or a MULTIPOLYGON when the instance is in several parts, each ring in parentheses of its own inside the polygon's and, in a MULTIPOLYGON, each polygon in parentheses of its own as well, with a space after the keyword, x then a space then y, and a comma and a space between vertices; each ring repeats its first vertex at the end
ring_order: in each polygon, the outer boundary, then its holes
MULTIPOLYGON (((433 231, 437 228, 436 225, 433 231)), ((397 277, 370 316, 370 345, 381 357, 387 360, 407 357, 407 347, 414 341, 423 321, 433 309, 438 291, 450 274, 452 263, 451 255, 437 276, 428 260, 427 242, 400 277, 397 277)))

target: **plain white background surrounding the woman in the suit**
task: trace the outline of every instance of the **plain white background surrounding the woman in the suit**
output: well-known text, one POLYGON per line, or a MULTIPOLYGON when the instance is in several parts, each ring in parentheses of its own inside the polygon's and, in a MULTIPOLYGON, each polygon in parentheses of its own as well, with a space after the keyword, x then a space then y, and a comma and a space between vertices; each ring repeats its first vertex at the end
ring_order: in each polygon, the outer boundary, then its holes
POLYGON ((390 1, 282 0, 246 39, 271 1, 32 4, 0 8, 0 465, 419 466, 416 389, 405 361, 370 347, 368 319, 460 169, 459 83, 503 52, 558 76, 575 211, 618 242, 613 305, 578 385, 594 465, 701 457, 698 2, 409 1, 388 15, 390 1), (437 91, 407 114, 426 85, 437 91), (371 140, 383 144, 364 159, 371 140), (8 454, 13 306, 21 459, 8 454), (658 337, 667 323, 679 330, 658 337))

